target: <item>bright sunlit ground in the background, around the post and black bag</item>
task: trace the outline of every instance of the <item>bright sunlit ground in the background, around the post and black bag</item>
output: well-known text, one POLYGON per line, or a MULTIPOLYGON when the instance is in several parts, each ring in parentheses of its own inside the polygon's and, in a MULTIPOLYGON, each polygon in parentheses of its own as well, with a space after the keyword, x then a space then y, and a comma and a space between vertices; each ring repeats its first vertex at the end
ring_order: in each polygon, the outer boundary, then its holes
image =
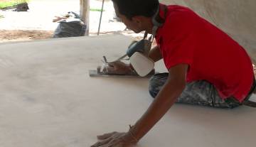
MULTIPOLYGON (((0 0, 9 1, 9 0, 0 0)), ((54 16, 60 16, 68 11, 79 13, 79 1, 73 0, 30 0, 28 12, 1 11, 0 16, 0 43, 10 41, 48 39, 53 36, 53 31, 58 23, 53 23, 54 16), (60 6, 60 2, 62 5, 60 6), (41 11, 47 6, 48 11, 41 11), (56 9, 58 8, 58 9, 56 9)), ((92 9, 100 9, 102 2, 91 0, 92 9)), ((122 31, 125 26, 119 22, 110 22, 113 18, 112 3, 105 3, 105 13, 102 17, 101 34, 105 32, 122 31)), ((90 35, 95 36, 98 28, 100 12, 90 11, 90 35)))

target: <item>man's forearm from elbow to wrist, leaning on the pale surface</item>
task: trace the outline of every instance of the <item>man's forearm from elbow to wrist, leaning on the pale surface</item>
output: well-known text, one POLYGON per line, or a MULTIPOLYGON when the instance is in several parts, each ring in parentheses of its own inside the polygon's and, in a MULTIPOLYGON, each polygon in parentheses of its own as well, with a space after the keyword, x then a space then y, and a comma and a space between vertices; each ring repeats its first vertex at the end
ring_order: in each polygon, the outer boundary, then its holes
POLYGON ((164 85, 163 89, 159 92, 146 113, 130 130, 138 140, 141 139, 161 119, 161 117, 164 116, 164 114, 166 114, 183 91, 185 87, 184 83, 175 83, 175 85, 173 83, 169 81, 164 85))

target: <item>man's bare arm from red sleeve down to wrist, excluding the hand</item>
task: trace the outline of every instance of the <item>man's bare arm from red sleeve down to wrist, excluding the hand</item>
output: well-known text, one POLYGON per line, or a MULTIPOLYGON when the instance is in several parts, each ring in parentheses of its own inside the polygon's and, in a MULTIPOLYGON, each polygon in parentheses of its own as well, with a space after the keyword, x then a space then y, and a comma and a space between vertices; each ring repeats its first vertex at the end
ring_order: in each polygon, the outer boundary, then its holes
POLYGON ((186 86, 188 65, 176 65, 169 70, 169 77, 163 89, 139 121, 130 129, 130 133, 141 139, 176 102, 186 86))

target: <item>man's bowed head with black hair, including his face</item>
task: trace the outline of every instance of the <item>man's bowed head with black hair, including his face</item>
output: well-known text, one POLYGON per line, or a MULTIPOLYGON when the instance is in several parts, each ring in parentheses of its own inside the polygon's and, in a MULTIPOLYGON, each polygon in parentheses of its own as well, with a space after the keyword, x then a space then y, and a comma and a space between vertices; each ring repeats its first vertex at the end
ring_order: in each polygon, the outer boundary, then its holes
POLYGON ((156 13, 159 0, 112 0, 117 17, 135 33, 151 31, 151 18, 156 13))

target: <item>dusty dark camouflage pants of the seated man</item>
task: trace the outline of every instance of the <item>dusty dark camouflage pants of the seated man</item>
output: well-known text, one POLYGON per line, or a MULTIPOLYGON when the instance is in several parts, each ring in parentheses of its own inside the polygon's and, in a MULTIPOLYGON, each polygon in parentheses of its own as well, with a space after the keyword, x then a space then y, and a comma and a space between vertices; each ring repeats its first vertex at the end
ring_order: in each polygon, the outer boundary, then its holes
MULTIPOLYGON (((159 93, 168 75, 168 73, 161 73, 151 77, 149 80, 149 93, 152 97, 156 97, 159 93)), ((221 99, 215 87, 205 80, 188 83, 180 97, 178 97, 177 103, 217 108, 235 108, 241 105, 233 97, 221 99)))

